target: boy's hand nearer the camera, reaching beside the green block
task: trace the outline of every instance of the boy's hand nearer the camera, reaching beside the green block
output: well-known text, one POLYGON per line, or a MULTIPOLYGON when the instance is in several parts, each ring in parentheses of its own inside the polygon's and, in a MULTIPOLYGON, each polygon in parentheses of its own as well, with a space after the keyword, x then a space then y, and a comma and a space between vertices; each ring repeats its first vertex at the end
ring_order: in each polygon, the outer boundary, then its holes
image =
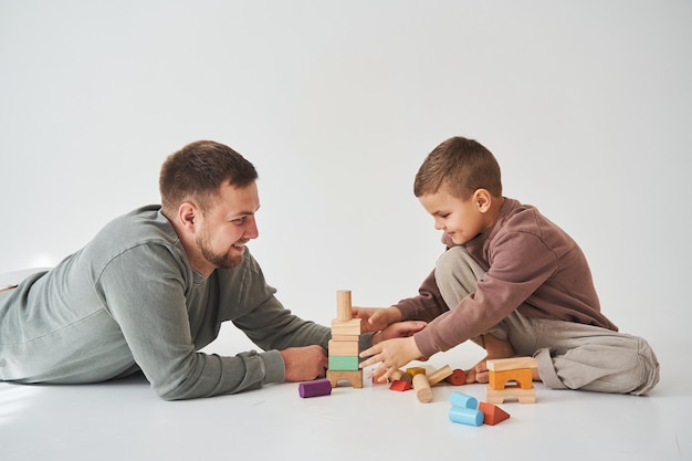
POLYGON ((361 352, 360 357, 370 357, 360 363, 360 368, 375 365, 378 362, 381 363, 379 367, 368 373, 366 378, 377 376, 378 380, 382 383, 389 379, 394 370, 399 369, 411 360, 422 358, 413 336, 384 340, 361 352))

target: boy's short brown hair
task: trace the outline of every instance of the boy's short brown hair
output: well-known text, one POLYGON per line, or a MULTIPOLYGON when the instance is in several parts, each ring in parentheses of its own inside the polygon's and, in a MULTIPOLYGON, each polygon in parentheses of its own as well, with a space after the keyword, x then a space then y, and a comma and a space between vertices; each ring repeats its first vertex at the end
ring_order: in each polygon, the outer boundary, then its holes
POLYGON ((452 137, 436 147, 418 169, 413 193, 421 197, 444 190, 468 200, 478 189, 502 196, 500 165, 490 150, 473 139, 452 137))

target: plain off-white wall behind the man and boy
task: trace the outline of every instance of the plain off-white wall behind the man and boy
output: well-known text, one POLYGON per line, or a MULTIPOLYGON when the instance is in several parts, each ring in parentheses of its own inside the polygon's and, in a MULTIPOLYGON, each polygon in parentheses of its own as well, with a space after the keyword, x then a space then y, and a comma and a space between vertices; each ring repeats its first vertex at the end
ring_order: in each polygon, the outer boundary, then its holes
POLYGON ((286 307, 389 305, 442 251, 413 176, 461 135, 578 241, 622 331, 678 349, 690 82, 690 1, 0 0, 0 272, 158 202, 165 157, 210 138, 259 170, 250 248, 286 307))

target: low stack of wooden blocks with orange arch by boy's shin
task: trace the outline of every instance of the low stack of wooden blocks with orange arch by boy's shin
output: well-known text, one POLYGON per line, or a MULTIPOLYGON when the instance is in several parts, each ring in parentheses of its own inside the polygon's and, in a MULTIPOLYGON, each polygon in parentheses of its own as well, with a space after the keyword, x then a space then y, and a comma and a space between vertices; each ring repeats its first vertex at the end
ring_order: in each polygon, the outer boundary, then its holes
POLYGON ((489 384, 486 400, 489 404, 502 404, 506 397, 516 397, 520 404, 535 404, 536 389, 533 384, 532 368, 538 366, 533 357, 512 357, 487 360, 489 384), (508 381, 515 381, 508 385, 508 381))

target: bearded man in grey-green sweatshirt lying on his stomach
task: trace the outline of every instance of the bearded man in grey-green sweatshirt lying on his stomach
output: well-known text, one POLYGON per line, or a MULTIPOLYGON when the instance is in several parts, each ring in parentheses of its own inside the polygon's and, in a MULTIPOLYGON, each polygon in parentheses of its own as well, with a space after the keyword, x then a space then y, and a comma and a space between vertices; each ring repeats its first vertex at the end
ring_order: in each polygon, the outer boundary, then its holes
POLYGON ((329 328, 285 310, 245 247, 258 237, 256 178, 214 142, 169 156, 160 207, 115 219, 54 269, 0 293, 0 380, 96 383, 141 370, 176 400, 324 376, 329 328), (264 352, 197 352, 226 321, 264 352))

